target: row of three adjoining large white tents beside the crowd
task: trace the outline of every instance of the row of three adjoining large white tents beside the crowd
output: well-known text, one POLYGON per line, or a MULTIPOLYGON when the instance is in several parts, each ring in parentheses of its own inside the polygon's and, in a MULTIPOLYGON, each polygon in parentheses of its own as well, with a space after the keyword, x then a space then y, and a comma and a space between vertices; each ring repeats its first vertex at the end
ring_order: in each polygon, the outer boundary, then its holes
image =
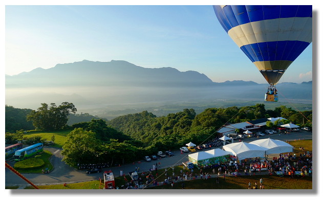
POLYGON ((223 146, 223 149, 201 151, 188 155, 188 159, 197 166, 229 163, 230 155, 236 156, 237 160, 250 158, 264 158, 268 154, 293 152, 290 144, 273 139, 255 140, 250 143, 239 142, 223 146))

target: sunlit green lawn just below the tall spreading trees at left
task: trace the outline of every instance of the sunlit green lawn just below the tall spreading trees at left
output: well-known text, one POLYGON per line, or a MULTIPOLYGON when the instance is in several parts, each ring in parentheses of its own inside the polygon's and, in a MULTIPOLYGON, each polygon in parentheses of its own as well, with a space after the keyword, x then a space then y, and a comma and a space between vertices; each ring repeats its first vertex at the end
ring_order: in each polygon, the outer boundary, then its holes
POLYGON ((62 130, 62 131, 53 131, 53 132, 31 132, 25 134, 24 137, 41 136, 47 141, 51 141, 51 138, 54 134, 55 140, 54 140, 54 144, 51 145, 51 147, 62 148, 63 144, 66 142, 67 139, 66 137, 69 132, 71 132, 71 130, 62 130))

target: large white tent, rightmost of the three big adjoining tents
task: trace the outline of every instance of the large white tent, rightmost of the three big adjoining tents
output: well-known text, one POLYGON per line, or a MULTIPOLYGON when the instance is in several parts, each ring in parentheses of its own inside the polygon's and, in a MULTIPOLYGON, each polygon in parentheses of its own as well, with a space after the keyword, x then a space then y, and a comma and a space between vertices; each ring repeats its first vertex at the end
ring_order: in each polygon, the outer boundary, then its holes
POLYGON ((286 153, 292 152, 293 146, 290 144, 280 141, 280 140, 273 140, 273 139, 260 139, 250 142, 249 144, 255 144, 261 147, 267 148, 266 154, 272 153, 286 153))

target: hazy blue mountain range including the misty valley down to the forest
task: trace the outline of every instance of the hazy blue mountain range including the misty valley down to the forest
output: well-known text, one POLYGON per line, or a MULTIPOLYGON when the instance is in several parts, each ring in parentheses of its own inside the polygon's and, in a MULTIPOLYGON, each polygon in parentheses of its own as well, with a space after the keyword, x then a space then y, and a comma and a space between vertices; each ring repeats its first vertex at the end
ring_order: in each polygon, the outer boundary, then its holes
MULTIPOLYGON (((279 99, 312 103, 312 81, 277 84, 279 99)), ((213 82, 196 71, 142 68, 127 61, 83 60, 6 75, 6 104, 36 109, 40 103, 72 102, 78 108, 194 99, 264 101, 267 85, 253 81, 213 82)))

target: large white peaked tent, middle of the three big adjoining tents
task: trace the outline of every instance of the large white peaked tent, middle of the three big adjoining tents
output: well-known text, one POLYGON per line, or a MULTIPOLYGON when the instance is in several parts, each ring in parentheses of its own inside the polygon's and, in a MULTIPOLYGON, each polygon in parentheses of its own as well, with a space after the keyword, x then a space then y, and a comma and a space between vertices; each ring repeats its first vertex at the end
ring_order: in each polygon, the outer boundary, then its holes
POLYGON ((248 158, 264 157, 267 148, 245 142, 232 143, 222 147, 225 151, 230 151, 239 160, 248 158))

